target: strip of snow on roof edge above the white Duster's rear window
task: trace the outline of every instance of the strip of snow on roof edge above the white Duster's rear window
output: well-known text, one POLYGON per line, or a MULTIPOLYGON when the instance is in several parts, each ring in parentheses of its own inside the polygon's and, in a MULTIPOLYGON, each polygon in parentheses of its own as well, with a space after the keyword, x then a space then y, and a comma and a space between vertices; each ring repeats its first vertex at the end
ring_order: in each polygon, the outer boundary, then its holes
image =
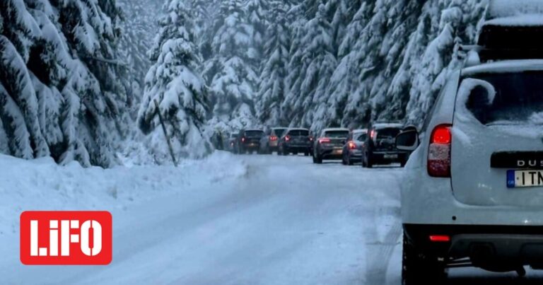
POLYGON ((502 73, 543 70, 543 59, 504 60, 462 69, 462 76, 480 73, 502 73))

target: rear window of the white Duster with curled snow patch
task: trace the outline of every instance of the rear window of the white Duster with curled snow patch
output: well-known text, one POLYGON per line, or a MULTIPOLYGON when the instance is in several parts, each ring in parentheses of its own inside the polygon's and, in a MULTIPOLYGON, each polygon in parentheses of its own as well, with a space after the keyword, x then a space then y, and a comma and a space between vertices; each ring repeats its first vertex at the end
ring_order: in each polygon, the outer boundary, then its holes
POLYGON ((480 74, 472 78, 476 80, 465 79, 462 84, 481 84, 469 86, 465 105, 482 124, 543 124, 543 71, 480 74), (494 91, 486 86, 488 83, 494 91))

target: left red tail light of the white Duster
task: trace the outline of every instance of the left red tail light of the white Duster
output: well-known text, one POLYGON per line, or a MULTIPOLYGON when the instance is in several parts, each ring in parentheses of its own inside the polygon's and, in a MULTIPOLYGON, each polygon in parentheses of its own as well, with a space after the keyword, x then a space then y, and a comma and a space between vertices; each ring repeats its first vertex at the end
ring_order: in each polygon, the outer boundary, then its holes
POLYGON ((450 178, 450 127, 450 124, 440 124, 433 129, 428 147, 428 175, 432 177, 450 178))

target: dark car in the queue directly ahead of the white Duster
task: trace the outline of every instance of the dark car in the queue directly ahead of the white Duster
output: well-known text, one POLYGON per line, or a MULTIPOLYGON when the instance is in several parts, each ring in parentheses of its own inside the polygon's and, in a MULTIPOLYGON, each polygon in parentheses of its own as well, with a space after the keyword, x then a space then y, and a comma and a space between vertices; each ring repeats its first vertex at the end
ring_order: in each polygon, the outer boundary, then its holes
POLYGON ((400 163, 404 167, 409 152, 396 148, 396 136, 402 129, 403 124, 397 123, 371 125, 362 149, 362 166, 372 168, 375 164, 400 163))

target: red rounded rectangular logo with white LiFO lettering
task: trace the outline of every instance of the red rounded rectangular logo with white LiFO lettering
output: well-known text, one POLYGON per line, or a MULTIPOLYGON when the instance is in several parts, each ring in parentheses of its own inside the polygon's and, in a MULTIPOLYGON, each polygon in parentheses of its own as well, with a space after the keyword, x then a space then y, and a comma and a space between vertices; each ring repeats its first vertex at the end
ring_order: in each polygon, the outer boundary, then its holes
POLYGON ((107 211, 25 211, 21 262, 26 265, 105 265, 112 258, 107 211))

